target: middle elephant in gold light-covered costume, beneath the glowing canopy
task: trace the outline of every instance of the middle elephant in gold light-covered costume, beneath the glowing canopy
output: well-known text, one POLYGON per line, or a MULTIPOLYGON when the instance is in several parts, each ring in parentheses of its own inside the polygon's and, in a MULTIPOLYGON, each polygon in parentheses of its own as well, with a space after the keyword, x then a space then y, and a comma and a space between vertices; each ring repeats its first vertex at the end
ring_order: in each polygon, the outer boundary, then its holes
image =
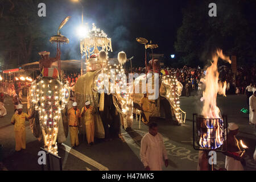
MULTIPOLYGON (((120 114, 123 121, 123 127, 131 127, 133 122, 133 102, 130 95, 126 92, 127 88, 119 85, 126 84, 122 80, 110 78, 111 75, 125 75, 122 64, 126 61, 125 52, 118 54, 119 64, 110 65, 105 51, 100 51, 98 55, 90 56, 86 67, 86 74, 82 75, 74 87, 77 105, 82 108, 85 101, 90 101, 94 108, 95 117, 95 136, 97 138, 105 137, 105 130, 102 124, 102 118, 98 111, 104 111, 104 91, 108 96, 112 96, 112 101, 116 111, 120 114), (105 90, 103 89, 105 86, 105 90), (120 89, 121 88, 121 89, 120 89), (100 91, 101 90, 101 91, 100 91), (106 92, 108 90, 108 92, 106 92), (114 90, 114 92, 112 92, 114 90)), ((117 114, 116 112, 116 114, 117 114)))

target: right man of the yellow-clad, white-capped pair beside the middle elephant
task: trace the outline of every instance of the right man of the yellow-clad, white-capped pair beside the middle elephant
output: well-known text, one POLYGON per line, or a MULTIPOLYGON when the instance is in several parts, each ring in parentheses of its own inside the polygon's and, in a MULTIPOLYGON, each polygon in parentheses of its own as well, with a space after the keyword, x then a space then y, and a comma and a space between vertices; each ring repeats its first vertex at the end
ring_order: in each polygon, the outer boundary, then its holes
POLYGON ((90 146, 94 143, 94 115, 93 107, 90 106, 90 101, 85 102, 85 107, 82 107, 81 110, 81 116, 84 116, 86 138, 90 146))

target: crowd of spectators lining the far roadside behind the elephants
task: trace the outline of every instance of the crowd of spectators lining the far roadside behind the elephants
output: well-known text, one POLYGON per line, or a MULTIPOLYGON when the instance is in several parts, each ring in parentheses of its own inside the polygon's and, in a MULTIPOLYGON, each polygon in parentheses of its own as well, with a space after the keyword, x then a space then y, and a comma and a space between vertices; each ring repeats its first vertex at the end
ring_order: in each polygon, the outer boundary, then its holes
MULTIPOLYGON (((183 85, 181 96, 201 96, 204 90, 204 84, 200 80, 205 77, 206 70, 206 68, 191 68, 187 66, 184 66, 183 68, 163 67, 160 68, 159 74, 176 75, 177 80, 183 85)), ((141 73, 145 73, 145 71, 146 69, 143 67, 133 68, 132 71, 130 68, 125 69, 127 78, 128 74, 131 72, 140 75, 141 73)), ((228 94, 244 94, 246 86, 250 85, 250 83, 255 86, 255 67, 250 67, 250 69, 238 67, 237 73, 232 73, 231 68, 222 66, 218 68, 218 72, 220 73, 219 79, 227 82, 226 93, 228 94)), ((62 80, 68 82, 69 86, 72 87, 76 84, 79 77, 80 73, 64 73, 62 80)), ((12 97, 15 94, 19 96, 22 94, 21 90, 24 90, 23 88, 28 88, 29 86, 30 82, 20 80, 6 80, 0 82, 0 87, 2 89, 1 93, 8 94, 12 97)))

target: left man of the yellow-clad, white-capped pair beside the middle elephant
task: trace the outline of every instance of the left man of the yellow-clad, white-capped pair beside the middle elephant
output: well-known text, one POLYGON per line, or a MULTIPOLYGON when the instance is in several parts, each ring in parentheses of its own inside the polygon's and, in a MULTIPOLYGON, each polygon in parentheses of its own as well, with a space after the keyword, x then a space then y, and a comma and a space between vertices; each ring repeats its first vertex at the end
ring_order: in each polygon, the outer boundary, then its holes
POLYGON ((71 146, 79 146, 78 130, 80 126, 80 110, 77 109, 77 102, 73 102, 73 108, 68 110, 68 125, 71 146))

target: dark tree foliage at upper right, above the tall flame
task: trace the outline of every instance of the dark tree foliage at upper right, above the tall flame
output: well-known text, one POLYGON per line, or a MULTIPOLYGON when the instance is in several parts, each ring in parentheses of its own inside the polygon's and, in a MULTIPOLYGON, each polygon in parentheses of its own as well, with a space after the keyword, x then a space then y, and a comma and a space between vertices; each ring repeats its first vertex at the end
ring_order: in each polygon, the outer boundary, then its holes
POLYGON ((191 1, 183 9, 183 24, 177 31, 175 49, 181 62, 199 64, 210 59, 217 48, 236 55, 238 64, 255 61, 255 1, 191 1), (217 5, 217 17, 210 17, 209 3, 217 5))

